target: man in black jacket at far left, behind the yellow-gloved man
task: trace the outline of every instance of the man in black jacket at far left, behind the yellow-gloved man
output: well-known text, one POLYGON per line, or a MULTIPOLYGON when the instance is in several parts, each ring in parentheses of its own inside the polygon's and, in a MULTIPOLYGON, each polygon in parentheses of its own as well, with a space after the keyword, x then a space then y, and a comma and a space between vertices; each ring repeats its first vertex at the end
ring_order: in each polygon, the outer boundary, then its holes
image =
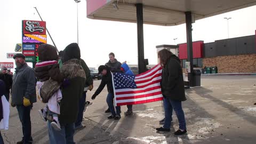
POLYGON ((4 93, 4 96, 5 96, 6 100, 9 101, 10 89, 12 89, 12 76, 7 74, 7 68, 6 67, 1 68, 0 79, 2 81, 4 81, 4 83, 5 83, 6 91, 4 93))

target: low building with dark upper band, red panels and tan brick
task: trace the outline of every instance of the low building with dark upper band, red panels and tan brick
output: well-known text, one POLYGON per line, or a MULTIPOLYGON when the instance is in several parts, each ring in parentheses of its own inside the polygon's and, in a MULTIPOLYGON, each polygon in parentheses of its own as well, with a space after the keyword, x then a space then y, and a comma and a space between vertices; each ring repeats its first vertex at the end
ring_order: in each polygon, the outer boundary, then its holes
MULTIPOLYGON (((256 31, 255 31, 256 33, 256 31)), ((217 66, 219 73, 256 73, 256 36, 244 36, 204 43, 193 42, 195 67, 217 66)), ((179 44, 182 67, 187 61, 187 44, 179 44)))

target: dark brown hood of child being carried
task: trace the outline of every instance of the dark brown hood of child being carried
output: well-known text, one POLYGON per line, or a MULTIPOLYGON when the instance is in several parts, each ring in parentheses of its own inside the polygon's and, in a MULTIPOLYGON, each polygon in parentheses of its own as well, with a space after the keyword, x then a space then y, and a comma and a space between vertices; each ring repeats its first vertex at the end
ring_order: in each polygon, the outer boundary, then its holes
POLYGON ((58 60, 59 56, 56 47, 50 44, 41 44, 38 47, 38 57, 41 61, 58 60))

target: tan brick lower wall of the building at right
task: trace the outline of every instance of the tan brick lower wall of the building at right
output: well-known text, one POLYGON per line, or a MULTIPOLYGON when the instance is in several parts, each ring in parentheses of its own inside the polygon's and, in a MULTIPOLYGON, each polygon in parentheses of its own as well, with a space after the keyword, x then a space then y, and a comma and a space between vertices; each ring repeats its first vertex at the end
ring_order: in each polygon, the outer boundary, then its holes
POLYGON ((256 73, 256 54, 204 58, 203 67, 217 66, 218 73, 256 73))

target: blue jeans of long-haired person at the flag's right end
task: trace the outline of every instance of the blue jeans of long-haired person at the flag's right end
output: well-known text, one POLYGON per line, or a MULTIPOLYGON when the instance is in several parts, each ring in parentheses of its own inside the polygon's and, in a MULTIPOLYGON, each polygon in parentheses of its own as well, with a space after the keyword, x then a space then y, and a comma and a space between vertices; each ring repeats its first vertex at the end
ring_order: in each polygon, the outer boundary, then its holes
POLYGON ((169 98, 164 98, 164 114, 165 121, 163 127, 165 129, 170 129, 172 122, 172 111, 175 111, 179 121, 179 129, 187 130, 185 115, 181 106, 181 101, 171 100, 169 98))

